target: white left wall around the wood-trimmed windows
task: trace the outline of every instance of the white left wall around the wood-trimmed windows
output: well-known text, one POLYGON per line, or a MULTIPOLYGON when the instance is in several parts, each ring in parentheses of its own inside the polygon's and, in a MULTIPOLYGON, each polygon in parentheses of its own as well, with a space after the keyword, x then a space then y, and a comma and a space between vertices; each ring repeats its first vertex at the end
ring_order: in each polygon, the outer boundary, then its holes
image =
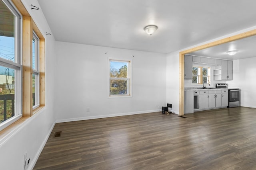
MULTIPOLYGON (((39 6, 36 0, 22 0, 40 31, 44 34, 50 28, 42 11, 31 10, 31 4, 39 6)), ((0 139, 0 169, 23 170, 24 154, 30 158, 28 169, 32 169, 49 133, 55 124, 54 115, 54 64, 55 39, 53 35, 46 39, 46 107, 27 119, 17 129, 0 139)))

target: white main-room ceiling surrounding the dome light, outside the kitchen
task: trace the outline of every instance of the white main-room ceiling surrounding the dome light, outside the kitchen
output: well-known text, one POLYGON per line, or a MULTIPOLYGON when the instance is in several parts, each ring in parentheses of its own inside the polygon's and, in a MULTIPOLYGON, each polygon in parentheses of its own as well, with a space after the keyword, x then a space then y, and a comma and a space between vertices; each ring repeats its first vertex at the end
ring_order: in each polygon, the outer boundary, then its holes
POLYGON ((170 53, 256 25, 255 0, 38 2, 56 41, 157 53, 170 53), (148 35, 143 28, 151 24, 158 29, 148 35))

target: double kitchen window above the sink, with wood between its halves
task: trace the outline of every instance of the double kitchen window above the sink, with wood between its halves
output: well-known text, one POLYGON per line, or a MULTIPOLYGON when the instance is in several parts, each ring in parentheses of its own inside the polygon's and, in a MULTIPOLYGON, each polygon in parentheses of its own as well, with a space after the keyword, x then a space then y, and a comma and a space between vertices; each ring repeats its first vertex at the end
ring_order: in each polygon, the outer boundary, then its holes
POLYGON ((193 66, 192 84, 210 84, 210 67, 193 66))

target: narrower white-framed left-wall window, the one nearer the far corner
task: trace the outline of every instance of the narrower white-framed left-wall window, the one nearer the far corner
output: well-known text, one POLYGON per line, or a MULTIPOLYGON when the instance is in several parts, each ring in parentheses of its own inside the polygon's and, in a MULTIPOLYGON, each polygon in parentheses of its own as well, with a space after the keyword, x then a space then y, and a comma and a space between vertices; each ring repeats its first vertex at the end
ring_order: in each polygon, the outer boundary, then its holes
POLYGON ((39 38, 33 31, 32 36, 32 97, 33 109, 39 107, 39 38))

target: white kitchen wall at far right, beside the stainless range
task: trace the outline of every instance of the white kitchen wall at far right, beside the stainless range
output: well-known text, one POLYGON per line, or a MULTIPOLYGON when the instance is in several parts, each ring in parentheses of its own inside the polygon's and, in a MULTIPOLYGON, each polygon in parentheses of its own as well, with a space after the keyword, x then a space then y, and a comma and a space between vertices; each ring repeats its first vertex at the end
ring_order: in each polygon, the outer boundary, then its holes
POLYGON ((240 88, 240 105, 256 108, 256 57, 233 61, 233 80, 228 86, 240 88))

